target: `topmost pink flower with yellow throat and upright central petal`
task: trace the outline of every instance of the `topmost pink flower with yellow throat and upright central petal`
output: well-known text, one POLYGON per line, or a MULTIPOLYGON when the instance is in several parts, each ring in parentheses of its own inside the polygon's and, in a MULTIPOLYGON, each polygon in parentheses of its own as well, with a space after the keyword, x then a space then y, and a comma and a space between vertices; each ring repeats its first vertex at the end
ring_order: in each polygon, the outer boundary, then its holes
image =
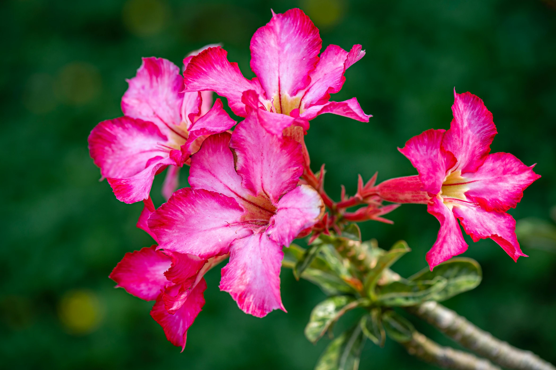
POLYGON ((319 58, 321 46, 319 29, 300 9, 272 12, 270 22, 251 38, 251 69, 257 77, 246 79, 237 63, 228 61, 224 49, 211 47, 188 64, 183 73, 186 91, 215 91, 241 117, 246 117, 251 106, 291 119, 309 121, 322 113, 335 113, 369 122, 371 116, 356 98, 329 101, 330 94, 342 88, 346 69, 363 58, 365 51, 361 45, 349 52, 329 45, 319 58))

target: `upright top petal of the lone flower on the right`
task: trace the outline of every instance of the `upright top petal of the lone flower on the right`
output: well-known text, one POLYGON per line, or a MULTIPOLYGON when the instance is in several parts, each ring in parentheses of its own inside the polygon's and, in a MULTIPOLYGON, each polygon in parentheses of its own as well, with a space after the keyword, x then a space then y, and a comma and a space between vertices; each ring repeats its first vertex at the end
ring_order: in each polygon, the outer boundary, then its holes
POLYGON ((458 159, 461 173, 475 172, 490 152, 490 143, 497 134, 492 113, 483 101, 466 92, 456 94, 454 89, 454 119, 444 134, 442 146, 458 159))

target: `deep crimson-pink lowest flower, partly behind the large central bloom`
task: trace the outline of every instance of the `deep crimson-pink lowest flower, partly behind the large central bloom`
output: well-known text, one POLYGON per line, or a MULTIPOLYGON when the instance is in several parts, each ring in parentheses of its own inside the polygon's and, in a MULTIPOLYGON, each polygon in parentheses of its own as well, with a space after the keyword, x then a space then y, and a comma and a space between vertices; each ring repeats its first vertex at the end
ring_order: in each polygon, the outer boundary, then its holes
POLYGON ((151 316, 174 346, 185 348, 187 329, 205 304, 203 275, 225 256, 201 259, 156 250, 156 246, 126 253, 110 278, 133 296, 155 301, 151 316))

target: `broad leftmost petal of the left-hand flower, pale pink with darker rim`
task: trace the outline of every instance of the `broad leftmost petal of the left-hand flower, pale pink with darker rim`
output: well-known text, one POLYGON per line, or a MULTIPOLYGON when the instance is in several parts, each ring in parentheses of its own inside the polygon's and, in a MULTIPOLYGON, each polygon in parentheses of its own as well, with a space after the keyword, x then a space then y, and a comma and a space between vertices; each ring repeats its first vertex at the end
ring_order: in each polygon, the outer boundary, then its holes
POLYGON ((131 177, 152 158, 168 157, 167 140, 156 124, 130 117, 102 121, 88 137, 89 152, 102 176, 114 178, 131 177))

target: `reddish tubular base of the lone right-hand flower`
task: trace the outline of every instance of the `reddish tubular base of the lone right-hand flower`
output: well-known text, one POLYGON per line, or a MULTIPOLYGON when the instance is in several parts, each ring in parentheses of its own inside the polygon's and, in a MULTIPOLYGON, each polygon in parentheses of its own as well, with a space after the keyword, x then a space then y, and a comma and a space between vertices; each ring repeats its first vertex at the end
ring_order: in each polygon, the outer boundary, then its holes
POLYGON ((393 203, 429 203, 430 197, 422 191, 423 183, 419 176, 391 178, 376 186, 379 196, 393 203))

